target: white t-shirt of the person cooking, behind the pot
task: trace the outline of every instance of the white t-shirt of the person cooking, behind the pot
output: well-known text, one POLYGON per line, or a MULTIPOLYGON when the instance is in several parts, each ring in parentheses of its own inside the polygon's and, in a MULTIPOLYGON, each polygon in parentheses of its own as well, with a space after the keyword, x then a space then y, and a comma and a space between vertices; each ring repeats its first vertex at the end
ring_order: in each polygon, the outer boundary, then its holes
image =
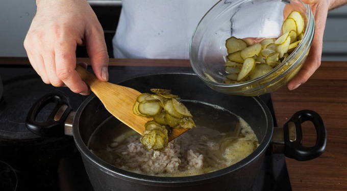
POLYGON ((189 41, 218 0, 123 0, 115 58, 189 59, 189 41))

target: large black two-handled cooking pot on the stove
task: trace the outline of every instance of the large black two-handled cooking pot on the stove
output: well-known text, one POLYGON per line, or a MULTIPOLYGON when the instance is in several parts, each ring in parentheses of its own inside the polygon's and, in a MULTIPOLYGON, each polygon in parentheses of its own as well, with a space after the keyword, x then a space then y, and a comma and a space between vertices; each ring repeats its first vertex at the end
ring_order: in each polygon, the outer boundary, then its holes
POLYGON ((94 130, 111 116, 95 95, 89 96, 76 113, 70 112, 62 96, 51 94, 41 98, 29 112, 28 128, 40 135, 73 135, 95 190, 251 190, 270 143, 274 145, 274 152, 283 152, 287 157, 297 160, 313 159, 325 150, 326 129, 319 115, 313 111, 300 111, 283 128, 274 128, 269 109, 260 98, 215 92, 194 74, 148 75, 123 81, 120 85, 140 92, 148 92, 152 87, 171 89, 184 99, 224 107, 250 124, 260 145, 235 165, 208 174, 188 177, 136 174, 110 165, 88 149, 87 143, 94 130), (35 116, 49 102, 57 103, 50 118, 44 123, 35 122, 35 116), (304 121, 312 121, 315 126, 317 139, 313 147, 301 144, 301 123, 304 121))

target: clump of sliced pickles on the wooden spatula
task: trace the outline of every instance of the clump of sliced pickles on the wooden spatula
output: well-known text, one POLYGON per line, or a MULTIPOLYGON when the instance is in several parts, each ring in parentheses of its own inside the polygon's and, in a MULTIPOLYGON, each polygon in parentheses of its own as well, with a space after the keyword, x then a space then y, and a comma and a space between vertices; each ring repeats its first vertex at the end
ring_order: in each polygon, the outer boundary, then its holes
POLYGON ((170 127, 192 128, 195 123, 187 107, 176 100, 177 95, 170 94, 163 89, 152 89, 156 94, 140 94, 133 105, 133 113, 145 117, 153 117, 144 125, 141 133, 141 144, 147 150, 163 150, 168 145, 170 127), (161 106, 163 105, 163 106, 161 106), (163 110, 164 108, 164 110, 163 110))

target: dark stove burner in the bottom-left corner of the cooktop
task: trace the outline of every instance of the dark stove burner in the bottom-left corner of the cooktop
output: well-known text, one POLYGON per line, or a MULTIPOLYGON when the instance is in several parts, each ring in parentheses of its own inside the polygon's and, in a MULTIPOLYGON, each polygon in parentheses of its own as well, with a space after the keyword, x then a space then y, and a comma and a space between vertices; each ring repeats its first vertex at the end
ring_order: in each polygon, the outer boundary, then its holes
POLYGON ((18 178, 14 169, 4 161, 0 161, 0 188, 3 191, 17 189, 18 178))

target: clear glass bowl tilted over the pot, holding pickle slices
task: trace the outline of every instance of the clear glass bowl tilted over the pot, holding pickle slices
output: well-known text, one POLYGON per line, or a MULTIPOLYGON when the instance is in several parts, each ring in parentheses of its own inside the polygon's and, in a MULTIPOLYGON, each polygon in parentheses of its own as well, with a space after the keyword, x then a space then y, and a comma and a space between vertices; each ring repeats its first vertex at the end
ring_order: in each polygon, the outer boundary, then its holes
POLYGON ((194 72, 212 89, 226 94, 256 96, 277 90, 301 69, 314 35, 314 16, 300 0, 221 0, 201 19, 190 41, 189 56, 194 72), (236 38, 277 38, 292 10, 304 17, 305 34, 295 50, 269 73, 238 84, 224 84, 225 46, 236 38), (209 74, 214 81, 206 76, 209 74))

